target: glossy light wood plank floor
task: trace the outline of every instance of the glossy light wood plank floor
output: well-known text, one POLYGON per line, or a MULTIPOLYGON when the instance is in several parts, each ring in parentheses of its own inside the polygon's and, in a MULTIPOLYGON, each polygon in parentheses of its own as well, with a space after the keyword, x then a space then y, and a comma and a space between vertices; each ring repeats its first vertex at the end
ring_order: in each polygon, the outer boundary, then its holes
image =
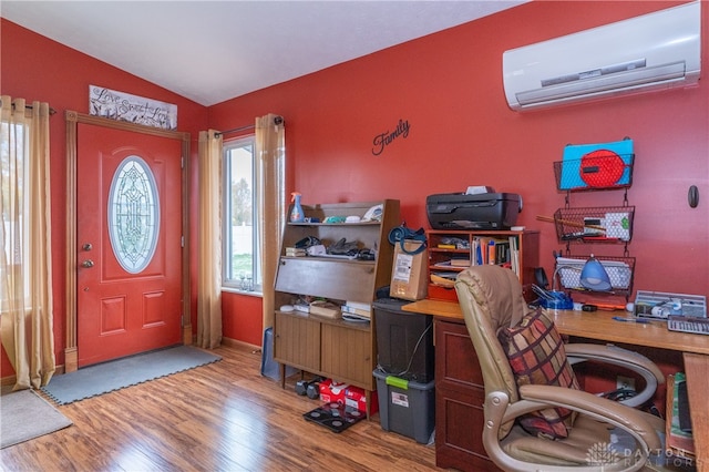
MULTIPOLYGON (((342 433, 307 422, 318 400, 260 376, 260 352, 60 406, 74 424, 0 451, 2 471, 431 471, 433 445, 379 414, 342 433)), ((438 469, 440 470, 440 469, 438 469)))

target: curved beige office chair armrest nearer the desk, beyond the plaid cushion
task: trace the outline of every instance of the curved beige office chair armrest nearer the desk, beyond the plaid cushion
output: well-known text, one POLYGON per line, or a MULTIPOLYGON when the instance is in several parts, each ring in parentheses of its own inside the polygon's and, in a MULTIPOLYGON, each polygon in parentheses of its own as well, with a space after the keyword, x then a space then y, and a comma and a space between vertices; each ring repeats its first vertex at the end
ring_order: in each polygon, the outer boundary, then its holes
POLYGON ((665 383, 665 376, 660 369, 647 357, 639 352, 619 348, 614 345, 593 345, 583 342, 569 342, 564 345, 566 357, 571 365, 597 361, 613 366, 619 366, 636 372, 645 380, 645 389, 638 391, 635 397, 620 401, 623 404, 639 407, 653 398, 658 383, 665 383))

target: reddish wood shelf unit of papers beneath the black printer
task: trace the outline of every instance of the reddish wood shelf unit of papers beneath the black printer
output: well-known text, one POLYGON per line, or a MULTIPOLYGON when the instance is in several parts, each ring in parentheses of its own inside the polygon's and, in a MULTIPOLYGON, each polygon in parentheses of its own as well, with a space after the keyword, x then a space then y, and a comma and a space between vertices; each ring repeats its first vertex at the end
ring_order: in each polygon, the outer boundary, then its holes
MULTIPOLYGON (((520 277, 525 299, 536 298, 532 284, 534 268, 540 265, 540 232, 430 229, 427 238, 430 274, 454 278, 470 265, 504 265, 520 277)), ((429 285, 428 294, 431 299, 458 301, 454 288, 433 283, 429 285)))

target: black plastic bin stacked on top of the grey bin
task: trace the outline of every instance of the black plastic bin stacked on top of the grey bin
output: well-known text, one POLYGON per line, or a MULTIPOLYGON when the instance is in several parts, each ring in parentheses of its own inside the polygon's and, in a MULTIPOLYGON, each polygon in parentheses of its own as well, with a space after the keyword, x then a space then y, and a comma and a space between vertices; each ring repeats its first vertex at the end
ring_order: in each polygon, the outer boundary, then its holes
POLYGON ((378 369, 420 383, 433 380, 433 317, 403 311, 410 301, 381 298, 372 304, 378 369))

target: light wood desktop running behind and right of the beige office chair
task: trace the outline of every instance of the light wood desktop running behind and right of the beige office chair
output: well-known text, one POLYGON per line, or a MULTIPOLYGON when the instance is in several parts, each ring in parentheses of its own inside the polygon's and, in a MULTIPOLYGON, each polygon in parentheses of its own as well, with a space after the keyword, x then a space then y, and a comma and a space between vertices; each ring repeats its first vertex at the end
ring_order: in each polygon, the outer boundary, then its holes
MULTIPOLYGON (((464 322, 456 302, 420 300, 404 305, 402 309, 464 322)), ((706 392, 709 391, 709 337, 669 331, 665 321, 623 322, 614 320, 614 316, 626 314, 559 310, 554 316, 554 322, 562 335, 682 352, 697 451, 697 470, 709 471, 709 402, 706 400, 706 392)))

